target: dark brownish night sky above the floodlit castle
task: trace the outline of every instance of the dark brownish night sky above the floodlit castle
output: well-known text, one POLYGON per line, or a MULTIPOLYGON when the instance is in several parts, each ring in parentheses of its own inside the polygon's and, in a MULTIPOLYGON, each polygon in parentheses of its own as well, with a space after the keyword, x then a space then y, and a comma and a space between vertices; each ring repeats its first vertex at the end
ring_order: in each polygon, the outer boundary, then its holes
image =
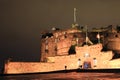
MULTIPOLYGON (((0 61, 39 61, 41 32, 120 24, 120 0, 0 0, 0 61)), ((0 65, 1 66, 1 65, 0 65)))

